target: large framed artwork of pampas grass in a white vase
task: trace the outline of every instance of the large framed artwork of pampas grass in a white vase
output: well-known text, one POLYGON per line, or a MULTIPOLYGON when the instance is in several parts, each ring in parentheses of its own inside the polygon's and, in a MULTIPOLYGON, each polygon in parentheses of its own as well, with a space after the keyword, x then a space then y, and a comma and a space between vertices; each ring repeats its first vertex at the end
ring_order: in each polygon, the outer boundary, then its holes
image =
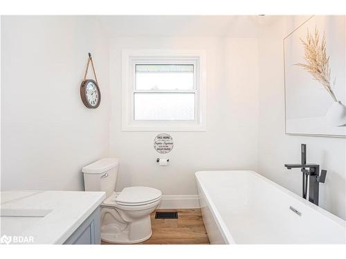
POLYGON ((345 16, 313 16, 284 38, 286 134, 346 137, 345 16))

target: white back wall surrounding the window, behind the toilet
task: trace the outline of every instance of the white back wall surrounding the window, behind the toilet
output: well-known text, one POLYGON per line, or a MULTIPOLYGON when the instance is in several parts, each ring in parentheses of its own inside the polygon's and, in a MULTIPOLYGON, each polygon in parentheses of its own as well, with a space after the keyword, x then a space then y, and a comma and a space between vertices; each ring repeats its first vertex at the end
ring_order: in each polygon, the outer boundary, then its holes
POLYGON ((257 41, 221 37, 115 37, 110 42, 111 156, 120 157, 116 190, 152 186, 164 195, 197 194, 194 172, 256 169, 257 41), (121 131, 121 50, 202 49, 207 60, 207 131, 167 132, 169 166, 153 148, 159 132, 121 131))

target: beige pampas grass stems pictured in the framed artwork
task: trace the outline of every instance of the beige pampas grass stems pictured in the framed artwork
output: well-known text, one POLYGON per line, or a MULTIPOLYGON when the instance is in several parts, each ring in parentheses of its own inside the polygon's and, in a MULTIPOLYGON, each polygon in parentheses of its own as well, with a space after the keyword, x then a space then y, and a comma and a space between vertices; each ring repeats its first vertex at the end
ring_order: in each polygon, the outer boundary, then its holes
POLYGON ((298 63, 295 65, 301 66, 304 70, 307 70, 307 72, 313 76, 313 79, 322 84, 329 95, 331 95, 334 102, 337 102, 336 96, 331 88, 329 56, 327 57, 326 53, 325 33, 323 33, 322 39, 320 40, 317 28, 315 28, 314 34, 311 34, 309 30, 307 30, 307 41, 302 39, 300 39, 300 41, 302 41, 304 45, 304 59, 307 61, 307 64, 298 63))

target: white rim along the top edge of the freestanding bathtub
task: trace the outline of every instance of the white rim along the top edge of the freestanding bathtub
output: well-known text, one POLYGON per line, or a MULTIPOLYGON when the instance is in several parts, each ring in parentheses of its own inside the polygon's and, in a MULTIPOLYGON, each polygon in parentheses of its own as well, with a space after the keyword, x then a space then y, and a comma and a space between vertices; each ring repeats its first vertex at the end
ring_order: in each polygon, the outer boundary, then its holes
POLYGON ((252 170, 204 170, 204 171, 197 171, 194 173, 195 178, 197 180, 197 184, 199 184, 199 186, 201 186, 201 191, 203 192, 203 195, 205 195, 205 197, 206 197, 206 203, 210 207, 210 211, 212 212, 212 216, 214 217, 214 220, 217 223, 217 227, 219 227, 219 231, 220 231, 221 235, 224 237, 225 242, 228 244, 236 244, 236 242, 233 239, 233 236, 231 235, 230 231, 228 230, 228 227, 226 226, 221 215, 219 214, 217 207, 215 206, 214 202, 212 202, 212 199, 210 198, 208 191, 206 191, 206 187, 203 186, 201 181, 199 181, 199 178, 201 177, 202 173, 210 173, 210 172, 235 172, 235 173, 246 172, 246 173, 250 173, 251 175, 253 175, 257 178, 264 180, 268 184, 271 184, 274 188, 279 189, 285 195, 289 195, 291 198, 294 198, 298 202, 304 204, 305 206, 307 206, 308 209, 312 209, 313 211, 316 211, 317 213, 322 214, 328 220, 331 220, 332 222, 340 225, 340 227, 343 227, 343 228, 346 227, 346 221, 343 220, 342 218, 339 218, 337 215, 334 215, 333 213, 326 211, 325 209, 322 209, 321 207, 318 207, 316 204, 313 204, 312 202, 305 200, 304 198, 300 197, 300 195, 297 195, 297 194, 293 193, 292 191, 289 191, 288 189, 284 188, 284 186, 281 186, 280 184, 277 184, 276 182, 269 180, 268 178, 264 177, 263 175, 255 172, 255 171, 252 171, 252 170))

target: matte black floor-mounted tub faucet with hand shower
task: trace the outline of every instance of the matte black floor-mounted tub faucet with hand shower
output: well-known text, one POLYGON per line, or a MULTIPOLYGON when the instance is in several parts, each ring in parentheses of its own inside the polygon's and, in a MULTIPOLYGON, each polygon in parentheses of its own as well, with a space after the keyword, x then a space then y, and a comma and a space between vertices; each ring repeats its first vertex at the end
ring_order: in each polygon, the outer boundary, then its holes
POLYGON ((309 202, 318 205, 318 195, 320 189, 320 182, 325 182, 327 174, 326 170, 320 173, 320 165, 307 164, 307 145, 301 146, 302 162, 301 164, 285 164, 287 169, 300 168, 302 171, 302 198, 307 198, 308 178, 309 178, 309 202))

